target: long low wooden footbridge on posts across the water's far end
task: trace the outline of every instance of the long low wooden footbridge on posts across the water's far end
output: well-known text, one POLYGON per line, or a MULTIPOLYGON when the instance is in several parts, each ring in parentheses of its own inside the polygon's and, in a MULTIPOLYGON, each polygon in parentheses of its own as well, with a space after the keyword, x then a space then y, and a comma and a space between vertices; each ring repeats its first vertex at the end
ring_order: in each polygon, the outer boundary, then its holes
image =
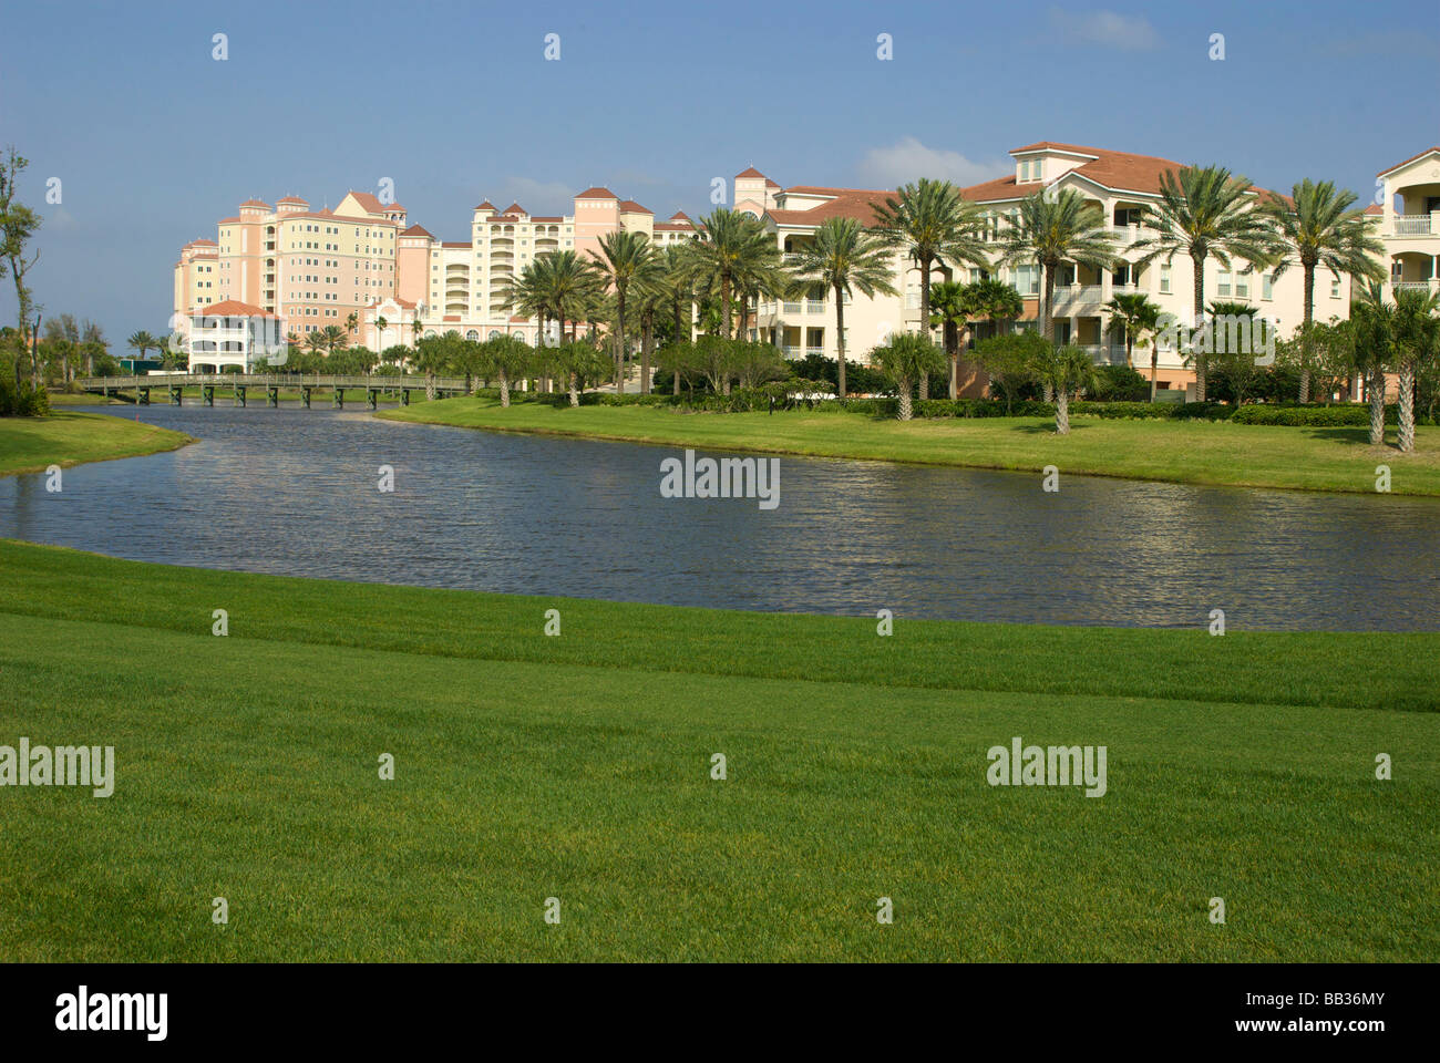
MULTIPOLYGON (((346 392, 363 390, 366 405, 376 409, 382 396, 395 396, 402 406, 410 405, 410 393, 467 395, 474 380, 462 376, 438 376, 426 380, 423 376, 318 376, 314 373, 164 373, 157 376, 82 376, 75 380, 81 390, 105 398, 124 399, 138 406, 150 405, 151 392, 166 395, 171 406, 181 405, 186 389, 197 389, 199 399, 206 406, 215 405, 216 392, 222 400, 229 398, 232 406, 246 405, 251 392, 265 392, 266 406, 279 406, 281 392, 300 398, 301 406, 310 409, 311 396, 330 393, 330 405, 343 409, 346 392)), ((192 390, 192 400, 194 393, 192 390)))

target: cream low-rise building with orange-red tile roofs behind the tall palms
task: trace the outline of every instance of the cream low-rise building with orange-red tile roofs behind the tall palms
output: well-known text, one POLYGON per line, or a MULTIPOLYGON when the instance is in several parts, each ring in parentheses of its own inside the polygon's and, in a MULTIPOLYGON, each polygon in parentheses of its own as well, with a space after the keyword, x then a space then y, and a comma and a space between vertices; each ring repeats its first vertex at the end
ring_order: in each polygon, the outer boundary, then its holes
MULTIPOLYGON (((1051 187, 1074 189, 1093 202, 1115 235, 1119 262, 1113 269, 1092 269, 1087 266, 1063 266, 1056 279, 1053 314, 1056 317, 1056 338, 1074 343, 1092 353, 1100 363, 1125 363, 1125 337, 1109 328, 1103 307, 1115 295, 1143 292, 1164 313, 1174 314, 1181 321, 1194 315, 1192 275, 1188 256, 1176 255, 1174 261, 1158 259, 1140 266, 1139 256, 1132 251, 1142 238, 1138 223, 1140 209, 1159 200, 1161 174, 1181 169, 1181 163, 1153 156, 1136 156, 1125 151, 1057 144, 1043 141, 1027 144, 1009 153, 1015 170, 996 180, 963 189, 966 199, 985 207, 988 223, 986 241, 999 252, 1001 233, 1018 215, 1020 202, 1030 194, 1051 187)), ((1440 192, 1440 189, 1433 189, 1440 192)), ((874 225, 876 206, 893 196, 893 192, 878 189, 834 189, 798 184, 780 189, 757 170, 746 170, 736 176, 736 206, 762 217, 766 228, 775 233, 779 248, 786 255, 799 251, 814 238, 816 226, 827 217, 855 217, 865 225, 874 225)), ((1261 196, 1256 192, 1256 202, 1261 196)), ((1440 242, 1440 241, 1437 241, 1440 242)), ((855 297, 845 307, 845 353, 848 359, 864 360, 865 351, 886 341, 899 331, 920 331, 920 271, 903 254, 896 254, 894 287, 899 297, 865 298, 855 297)), ((1014 285, 1025 301, 1018 327, 1038 327, 1040 318, 1040 269, 1031 264, 1007 266, 992 271, 999 279, 1014 285)), ((986 271, 953 264, 936 265, 932 284, 937 281, 976 281, 986 271)), ((1433 275, 1433 274, 1427 274, 1433 275)), ((1325 321, 1332 315, 1345 317, 1349 311, 1351 279, 1332 277, 1328 272, 1316 277, 1315 317, 1325 321)), ((1303 318, 1303 281, 1299 268, 1280 272, 1257 272, 1244 264, 1221 266, 1214 258, 1205 264, 1205 300, 1248 302, 1261 317, 1277 324, 1282 336, 1293 331, 1303 318)), ((806 300, 759 300, 750 320, 749 336, 766 338, 792 357, 805 353, 819 353, 835 357, 835 311, 834 297, 806 300)), ((984 334, 988 326, 972 330, 984 334)), ((937 338, 937 336, 936 336, 937 338)), ((1149 350, 1135 351, 1135 367, 1149 374, 1149 350)), ((1185 366, 1182 356, 1161 344, 1156 380, 1162 389, 1192 389, 1194 370, 1185 366)), ((966 393, 981 393, 985 386, 982 374, 969 373, 966 393)))

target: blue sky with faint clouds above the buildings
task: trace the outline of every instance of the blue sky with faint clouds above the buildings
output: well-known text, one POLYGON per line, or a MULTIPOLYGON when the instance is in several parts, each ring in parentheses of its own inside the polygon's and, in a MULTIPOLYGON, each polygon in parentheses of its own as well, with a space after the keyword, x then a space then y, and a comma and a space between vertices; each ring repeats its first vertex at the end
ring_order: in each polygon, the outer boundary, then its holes
POLYGON ((164 330, 180 245, 213 239, 240 200, 334 206, 384 177, 442 239, 465 238, 487 196, 559 213, 605 184, 697 215, 713 177, 747 166, 780 184, 971 183, 1035 140, 1223 163, 1269 187, 1331 179, 1368 202, 1377 170, 1440 144, 1433 16, 1404 1, 9 4, 0 145, 30 160, 22 197, 46 219, 45 313, 94 318, 118 346, 164 330))

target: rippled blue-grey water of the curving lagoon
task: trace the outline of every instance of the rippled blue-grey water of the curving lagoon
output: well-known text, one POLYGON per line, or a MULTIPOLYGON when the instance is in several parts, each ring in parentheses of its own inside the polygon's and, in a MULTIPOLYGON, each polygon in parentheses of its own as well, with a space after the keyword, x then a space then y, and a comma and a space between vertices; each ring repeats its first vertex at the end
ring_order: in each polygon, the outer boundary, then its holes
MULTIPOLYGON (((115 412, 104 408, 101 412, 115 412)), ((127 411, 124 416, 134 416, 127 411)), ((780 458, 780 504, 660 497, 674 448, 295 406, 141 408, 199 436, 0 478, 0 536, 137 560, 783 612, 1440 629, 1440 500, 780 458), (379 467, 396 490, 376 488, 379 467)), ((956 647, 956 652, 963 652, 956 647)))

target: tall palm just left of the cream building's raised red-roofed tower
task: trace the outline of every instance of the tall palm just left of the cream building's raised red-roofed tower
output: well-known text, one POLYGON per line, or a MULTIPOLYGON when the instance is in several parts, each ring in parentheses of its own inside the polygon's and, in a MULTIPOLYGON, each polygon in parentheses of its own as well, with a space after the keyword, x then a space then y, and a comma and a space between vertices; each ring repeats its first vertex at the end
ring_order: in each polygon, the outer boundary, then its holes
MULTIPOLYGON (((920 269, 920 331, 929 337, 930 271, 950 265, 989 268, 985 254, 985 217, 950 181, 922 177, 903 184, 897 194, 876 207, 876 220, 891 248, 904 251, 920 269)), ((930 379, 920 380, 920 398, 929 398, 930 379)))

